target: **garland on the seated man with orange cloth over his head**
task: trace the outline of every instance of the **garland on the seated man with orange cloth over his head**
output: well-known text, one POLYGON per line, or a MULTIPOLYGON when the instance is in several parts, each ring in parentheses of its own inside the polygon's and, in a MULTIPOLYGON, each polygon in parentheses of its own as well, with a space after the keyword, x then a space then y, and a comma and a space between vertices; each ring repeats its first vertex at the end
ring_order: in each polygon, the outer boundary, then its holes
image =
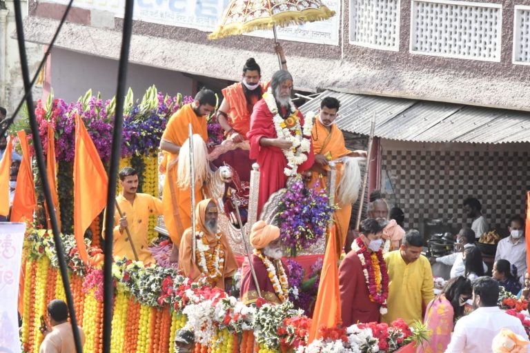
POLYGON ((217 279, 222 278, 224 274, 224 250, 221 243, 221 233, 215 234, 215 241, 215 249, 211 251, 206 234, 204 232, 197 233, 197 265, 211 285, 215 285, 217 279))

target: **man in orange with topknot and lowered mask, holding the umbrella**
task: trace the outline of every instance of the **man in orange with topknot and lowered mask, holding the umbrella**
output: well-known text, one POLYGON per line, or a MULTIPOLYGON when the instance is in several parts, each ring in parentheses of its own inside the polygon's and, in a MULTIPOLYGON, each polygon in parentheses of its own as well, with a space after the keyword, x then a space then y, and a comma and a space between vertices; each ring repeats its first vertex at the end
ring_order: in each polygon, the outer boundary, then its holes
MULTIPOLYGON (((275 52, 282 61, 282 70, 287 71, 287 61, 282 46, 276 43, 275 52)), ((246 140, 246 133, 251 129, 251 114, 255 103, 262 99, 270 82, 261 82, 262 69, 254 58, 243 66, 241 82, 223 88, 224 100, 217 110, 217 119, 224 129, 226 137, 235 143, 246 140)))

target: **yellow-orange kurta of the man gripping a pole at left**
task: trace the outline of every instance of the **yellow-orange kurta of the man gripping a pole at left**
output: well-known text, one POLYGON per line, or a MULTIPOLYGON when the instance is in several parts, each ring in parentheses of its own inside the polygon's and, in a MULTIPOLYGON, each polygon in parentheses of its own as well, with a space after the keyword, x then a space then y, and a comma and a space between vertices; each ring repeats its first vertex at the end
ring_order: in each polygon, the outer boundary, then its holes
MULTIPOLYGON (((130 237, 135 245, 138 260, 144 263, 156 263, 155 258, 149 251, 148 230, 149 216, 151 214, 162 214, 162 201, 150 194, 136 194, 135 200, 131 204, 122 194, 116 197, 119 209, 126 216, 130 237)), ((105 210, 105 214, 107 210, 105 210)), ((135 253, 130 246, 126 230, 119 231, 119 213, 114 212, 114 245, 112 254, 114 256, 126 257, 135 260, 135 253)), ((105 225, 103 226, 103 237, 105 237, 105 225)))

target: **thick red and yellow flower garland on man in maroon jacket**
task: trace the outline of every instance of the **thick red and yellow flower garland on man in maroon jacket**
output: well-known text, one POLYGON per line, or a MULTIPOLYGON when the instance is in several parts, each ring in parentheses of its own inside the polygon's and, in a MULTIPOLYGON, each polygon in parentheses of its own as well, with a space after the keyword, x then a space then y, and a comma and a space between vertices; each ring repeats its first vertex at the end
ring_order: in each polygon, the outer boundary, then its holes
POLYGON ((359 256, 362 272, 368 285, 370 300, 381 305, 379 311, 386 314, 386 298, 389 296, 389 274, 386 272, 386 263, 381 250, 370 253, 366 250, 362 239, 355 239, 352 250, 359 256))

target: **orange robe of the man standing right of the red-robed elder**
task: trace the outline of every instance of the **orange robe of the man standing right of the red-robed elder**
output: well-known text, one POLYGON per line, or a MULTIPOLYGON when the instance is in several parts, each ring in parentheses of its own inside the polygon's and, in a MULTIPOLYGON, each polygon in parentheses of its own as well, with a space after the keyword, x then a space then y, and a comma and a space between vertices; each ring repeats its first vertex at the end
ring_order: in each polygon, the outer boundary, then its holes
MULTIPOLYGON (((344 157, 350 154, 352 151, 346 148, 346 142, 344 142, 344 135, 340 128, 337 128, 337 124, 331 125, 331 131, 320 122, 317 118, 311 130, 311 141, 313 142, 313 149, 315 154, 324 154, 329 160, 344 157)), ((326 165, 325 170, 330 170, 326 165)), ((335 187, 339 185, 340 178, 342 177, 342 163, 337 163, 337 179, 335 187)), ((315 182, 320 180, 320 189, 326 188, 327 177, 326 175, 313 172, 310 187, 313 188, 315 182)), ((346 234, 348 234, 348 228, 351 219, 351 205, 344 205, 338 203, 337 193, 335 192, 335 203, 338 204, 339 209, 333 212, 333 220, 335 221, 335 239, 337 245, 337 256, 340 256, 342 249, 344 249, 344 243, 346 243, 346 234)))

